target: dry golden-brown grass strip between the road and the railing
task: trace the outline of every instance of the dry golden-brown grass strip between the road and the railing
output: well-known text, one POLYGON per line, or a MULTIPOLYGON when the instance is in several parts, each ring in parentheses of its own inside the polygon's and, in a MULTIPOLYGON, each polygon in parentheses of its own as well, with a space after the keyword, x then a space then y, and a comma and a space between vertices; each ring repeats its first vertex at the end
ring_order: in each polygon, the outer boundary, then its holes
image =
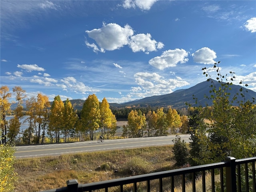
POLYGON ((36 192, 61 188, 66 186, 69 179, 84 184, 130 176, 132 173, 125 170, 135 156, 148 162, 147 167, 150 169, 146 169, 147 172, 175 168, 172 146, 16 159, 14 167, 18 180, 15 191, 36 192), (118 170, 118 174, 114 170, 118 170))

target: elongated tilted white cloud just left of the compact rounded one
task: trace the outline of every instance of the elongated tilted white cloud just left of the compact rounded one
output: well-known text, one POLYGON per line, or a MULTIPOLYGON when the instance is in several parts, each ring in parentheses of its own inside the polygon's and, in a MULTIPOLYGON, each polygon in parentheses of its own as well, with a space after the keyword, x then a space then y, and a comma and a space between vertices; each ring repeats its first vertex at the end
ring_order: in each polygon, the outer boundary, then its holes
POLYGON ((162 70, 167 67, 174 67, 180 63, 188 62, 188 52, 184 49, 167 50, 162 53, 161 56, 157 56, 149 60, 149 64, 162 70))

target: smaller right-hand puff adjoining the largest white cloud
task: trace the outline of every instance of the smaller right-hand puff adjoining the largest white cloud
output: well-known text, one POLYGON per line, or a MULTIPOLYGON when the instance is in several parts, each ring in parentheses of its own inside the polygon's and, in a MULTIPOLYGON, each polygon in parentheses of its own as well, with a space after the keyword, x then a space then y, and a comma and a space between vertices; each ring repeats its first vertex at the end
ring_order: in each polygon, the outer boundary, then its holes
POLYGON ((148 53, 149 51, 156 51, 157 48, 163 48, 162 42, 156 42, 151 40, 151 35, 148 34, 137 34, 130 38, 129 46, 133 52, 143 51, 148 53))

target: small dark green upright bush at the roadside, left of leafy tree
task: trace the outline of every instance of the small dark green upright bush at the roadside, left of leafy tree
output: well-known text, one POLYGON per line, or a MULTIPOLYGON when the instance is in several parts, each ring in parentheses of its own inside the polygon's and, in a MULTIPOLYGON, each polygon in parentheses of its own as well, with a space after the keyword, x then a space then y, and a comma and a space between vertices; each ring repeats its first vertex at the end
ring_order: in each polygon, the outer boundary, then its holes
POLYGON ((176 165, 182 167, 188 163, 188 148, 186 142, 184 142, 184 140, 181 141, 178 135, 176 135, 172 142, 174 142, 172 152, 174 153, 176 165))

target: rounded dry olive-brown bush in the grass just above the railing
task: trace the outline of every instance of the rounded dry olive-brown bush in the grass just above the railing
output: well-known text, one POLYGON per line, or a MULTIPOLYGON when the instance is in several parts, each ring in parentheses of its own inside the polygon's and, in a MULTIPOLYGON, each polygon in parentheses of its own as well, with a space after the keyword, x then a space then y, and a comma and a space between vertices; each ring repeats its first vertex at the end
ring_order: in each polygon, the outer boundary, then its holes
POLYGON ((123 171, 130 175, 142 175, 148 173, 148 162, 140 157, 131 158, 123 171))

